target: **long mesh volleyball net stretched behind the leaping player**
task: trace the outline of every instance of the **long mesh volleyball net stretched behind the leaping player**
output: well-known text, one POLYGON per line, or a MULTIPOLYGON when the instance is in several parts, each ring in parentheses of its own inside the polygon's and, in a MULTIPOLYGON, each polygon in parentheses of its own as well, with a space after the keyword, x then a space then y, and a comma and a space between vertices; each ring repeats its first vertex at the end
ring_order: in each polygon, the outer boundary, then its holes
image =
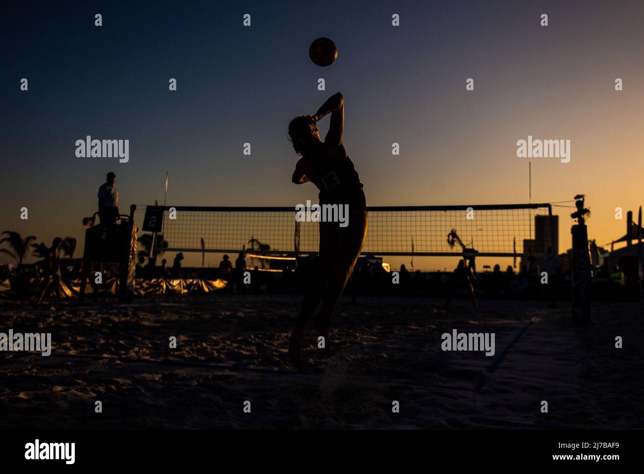
MULTIPOLYGON (((481 257, 545 255, 557 250, 550 204, 370 207, 363 255, 481 257)), ((147 206, 167 252, 305 255, 319 249, 319 223, 296 221, 292 207, 147 206)), ((337 225, 337 224, 336 224, 337 225)), ((147 229, 146 229, 147 226, 147 229)))

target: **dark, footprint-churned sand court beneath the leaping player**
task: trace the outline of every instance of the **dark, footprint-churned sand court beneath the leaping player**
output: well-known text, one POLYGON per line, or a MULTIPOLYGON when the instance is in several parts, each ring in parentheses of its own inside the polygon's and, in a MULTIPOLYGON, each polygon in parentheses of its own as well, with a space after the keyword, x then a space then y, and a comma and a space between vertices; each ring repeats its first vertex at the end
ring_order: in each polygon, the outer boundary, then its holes
POLYGON ((298 373, 287 336, 300 301, 0 302, 0 332, 51 332, 53 342, 50 357, 0 352, 0 428, 644 428, 642 305, 598 303, 580 327, 563 303, 481 301, 475 312, 464 300, 444 311, 431 299, 358 297, 354 308, 343 298, 335 353, 309 334, 298 373), (496 333, 495 356, 440 350, 453 328, 496 333))

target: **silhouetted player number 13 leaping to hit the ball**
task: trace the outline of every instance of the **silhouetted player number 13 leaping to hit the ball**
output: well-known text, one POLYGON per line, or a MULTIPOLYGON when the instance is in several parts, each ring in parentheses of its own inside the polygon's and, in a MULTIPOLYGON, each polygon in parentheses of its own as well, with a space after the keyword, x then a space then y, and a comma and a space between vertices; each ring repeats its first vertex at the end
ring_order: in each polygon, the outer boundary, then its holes
POLYGON ((300 365, 301 339, 308 319, 322 300, 316 317, 317 335, 325 337, 329 348, 331 317, 337 300, 345 290, 355 262, 365 244, 368 215, 363 184, 354 164, 346 154, 342 142, 345 123, 345 99, 342 94, 332 95, 312 117, 301 115, 289 124, 289 139, 295 152, 301 156, 293 172, 295 184, 309 181, 319 189, 319 204, 348 204, 348 226, 339 222, 319 222, 319 267, 305 295, 298 322, 290 337, 289 357, 300 365), (317 130, 317 122, 331 114, 324 141, 317 130))

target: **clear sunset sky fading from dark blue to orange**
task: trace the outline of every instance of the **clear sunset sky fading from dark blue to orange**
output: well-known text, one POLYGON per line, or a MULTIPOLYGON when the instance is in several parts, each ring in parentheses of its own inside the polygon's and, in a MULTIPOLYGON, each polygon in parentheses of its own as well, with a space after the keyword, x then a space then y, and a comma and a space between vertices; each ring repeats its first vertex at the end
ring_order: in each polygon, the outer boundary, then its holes
MULTIPOLYGON (((162 202, 166 171, 172 205, 317 202, 312 184, 290 183, 298 157, 286 130, 337 91, 346 150, 370 206, 527 202, 528 159, 516 157, 516 141, 528 135, 571 141, 570 163, 531 160, 532 201, 585 193, 591 239, 621 237, 615 208, 625 219, 644 204, 640 0, 79 1, 0 12, 0 232, 48 244, 76 237, 81 255, 81 219, 95 212, 109 171, 122 212, 162 202), (103 26, 94 26, 97 13, 103 26), (251 27, 242 25, 247 13, 251 27), (328 68, 308 58, 320 36, 339 50, 328 68), (76 157, 86 135, 129 139, 129 162, 76 157)), ((571 210, 555 209, 565 250, 571 210)), ((184 264, 200 255, 191 259, 184 264)))

